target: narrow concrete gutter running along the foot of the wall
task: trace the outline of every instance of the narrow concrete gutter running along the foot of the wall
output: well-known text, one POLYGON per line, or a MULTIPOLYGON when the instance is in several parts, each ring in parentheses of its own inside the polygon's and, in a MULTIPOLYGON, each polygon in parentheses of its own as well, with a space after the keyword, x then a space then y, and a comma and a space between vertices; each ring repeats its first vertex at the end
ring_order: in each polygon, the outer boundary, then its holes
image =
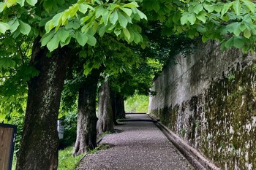
POLYGON ((163 125, 157 117, 154 115, 148 114, 149 117, 153 120, 154 124, 162 131, 167 139, 173 143, 173 145, 184 155, 185 158, 195 167, 195 169, 211 169, 211 170, 220 170, 219 167, 215 166, 214 163, 209 161, 203 155, 200 154, 195 148, 189 146, 183 139, 170 131, 165 125, 163 125))

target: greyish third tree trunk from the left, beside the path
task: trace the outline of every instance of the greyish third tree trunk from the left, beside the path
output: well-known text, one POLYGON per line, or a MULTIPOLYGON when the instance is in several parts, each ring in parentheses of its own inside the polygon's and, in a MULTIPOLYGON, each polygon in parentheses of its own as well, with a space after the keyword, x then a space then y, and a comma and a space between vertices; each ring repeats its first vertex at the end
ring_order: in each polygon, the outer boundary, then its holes
POLYGON ((114 131, 113 127, 113 110, 110 101, 110 88, 108 82, 104 82, 99 90, 98 101, 98 122, 97 134, 102 134, 106 131, 114 131))

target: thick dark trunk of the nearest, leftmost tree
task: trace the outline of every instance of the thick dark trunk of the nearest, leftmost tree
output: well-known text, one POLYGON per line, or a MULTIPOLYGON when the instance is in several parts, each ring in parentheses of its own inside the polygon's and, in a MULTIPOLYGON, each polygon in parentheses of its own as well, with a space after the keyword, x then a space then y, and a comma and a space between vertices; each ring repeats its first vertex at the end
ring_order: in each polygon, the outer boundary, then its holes
POLYGON ((61 90, 71 56, 67 49, 56 50, 51 57, 34 41, 31 65, 39 76, 29 80, 26 117, 23 126, 17 170, 57 169, 59 137, 56 128, 61 90))

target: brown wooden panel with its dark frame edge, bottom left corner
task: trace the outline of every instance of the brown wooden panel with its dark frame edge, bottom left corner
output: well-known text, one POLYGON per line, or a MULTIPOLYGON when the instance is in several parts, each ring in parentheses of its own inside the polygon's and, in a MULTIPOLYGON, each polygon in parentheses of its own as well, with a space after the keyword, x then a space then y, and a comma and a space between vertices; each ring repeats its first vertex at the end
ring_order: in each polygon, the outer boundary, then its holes
POLYGON ((0 123, 0 170, 12 169, 16 125, 0 123))

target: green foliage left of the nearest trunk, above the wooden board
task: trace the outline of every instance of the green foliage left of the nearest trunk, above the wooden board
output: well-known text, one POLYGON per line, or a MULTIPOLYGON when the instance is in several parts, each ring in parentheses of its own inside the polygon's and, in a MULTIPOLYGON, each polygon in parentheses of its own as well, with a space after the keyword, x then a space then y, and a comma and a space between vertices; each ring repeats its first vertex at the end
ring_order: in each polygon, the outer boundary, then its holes
POLYGON ((4 38, 0 41, 0 119, 9 121, 12 115, 23 115, 26 109, 26 82, 39 72, 29 66, 31 45, 4 38))

